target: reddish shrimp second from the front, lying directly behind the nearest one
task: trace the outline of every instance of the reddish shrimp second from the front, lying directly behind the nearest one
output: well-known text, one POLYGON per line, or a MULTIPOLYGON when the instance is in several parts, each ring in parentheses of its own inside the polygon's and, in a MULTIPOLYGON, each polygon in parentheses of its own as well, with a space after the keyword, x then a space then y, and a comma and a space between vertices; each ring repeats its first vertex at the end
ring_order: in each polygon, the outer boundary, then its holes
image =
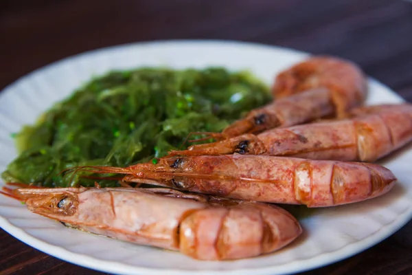
POLYGON ((156 164, 84 169, 93 173, 125 174, 123 180, 128 182, 308 207, 371 199, 388 192, 396 182, 390 170, 377 164, 268 155, 164 157, 156 164))

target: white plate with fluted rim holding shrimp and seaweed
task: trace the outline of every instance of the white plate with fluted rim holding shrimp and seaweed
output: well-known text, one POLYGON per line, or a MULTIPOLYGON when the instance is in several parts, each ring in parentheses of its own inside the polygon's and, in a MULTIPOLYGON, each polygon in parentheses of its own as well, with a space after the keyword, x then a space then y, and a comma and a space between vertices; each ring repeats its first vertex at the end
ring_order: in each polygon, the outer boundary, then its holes
MULTIPOLYGON (((138 43, 80 54, 39 69, 0 94, 0 170, 16 157, 10 134, 91 76, 139 66, 175 68, 222 65, 273 76, 306 54, 279 47, 219 41, 138 43)), ((369 81, 368 103, 401 102, 390 89, 369 81)), ((195 261, 169 252, 65 228, 0 196, 0 226, 34 248, 65 261, 117 274, 286 274, 310 270, 361 252, 396 232, 412 217, 411 148, 385 161, 399 184, 383 197, 317 210, 301 219, 304 234, 288 248, 255 259, 195 261)))

